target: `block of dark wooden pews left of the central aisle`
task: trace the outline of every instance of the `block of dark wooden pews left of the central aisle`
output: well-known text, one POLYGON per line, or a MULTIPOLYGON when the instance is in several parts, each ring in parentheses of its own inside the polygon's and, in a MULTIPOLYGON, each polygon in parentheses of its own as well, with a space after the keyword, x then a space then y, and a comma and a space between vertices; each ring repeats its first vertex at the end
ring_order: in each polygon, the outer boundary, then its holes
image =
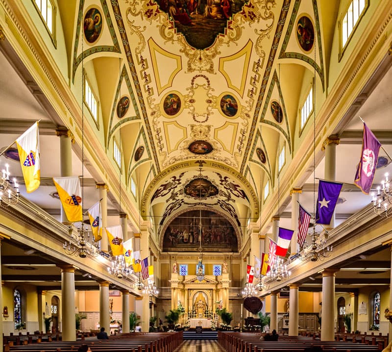
POLYGON ((20 346, 4 345, 4 352, 77 352, 87 344, 93 352, 172 352, 183 342, 182 331, 123 333, 111 335, 109 340, 97 338, 77 341, 51 341, 20 346))

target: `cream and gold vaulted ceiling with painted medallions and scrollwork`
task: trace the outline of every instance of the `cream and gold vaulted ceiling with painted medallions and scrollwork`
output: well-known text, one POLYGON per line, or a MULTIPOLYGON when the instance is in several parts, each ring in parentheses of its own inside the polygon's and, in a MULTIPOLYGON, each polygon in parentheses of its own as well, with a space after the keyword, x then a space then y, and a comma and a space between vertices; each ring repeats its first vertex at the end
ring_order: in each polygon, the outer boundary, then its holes
POLYGON ((201 205, 242 235, 281 143, 292 156, 297 81, 308 70, 324 84, 316 0, 80 0, 75 10, 73 77, 82 58, 118 67, 112 86, 96 69, 113 97, 102 130, 108 148, 121 141, 127 185, 138 183, 162 244, 169 219, 201 205))

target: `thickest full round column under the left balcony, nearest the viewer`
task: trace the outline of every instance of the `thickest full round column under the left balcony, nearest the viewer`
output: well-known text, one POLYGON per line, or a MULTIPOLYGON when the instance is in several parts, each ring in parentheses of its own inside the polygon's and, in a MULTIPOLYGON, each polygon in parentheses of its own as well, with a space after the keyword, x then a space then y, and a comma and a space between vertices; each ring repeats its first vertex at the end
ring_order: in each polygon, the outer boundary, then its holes
POLYGON ((63 341, 75 341, 75 268, 72 265, 61 268, 61 330, 63 341))

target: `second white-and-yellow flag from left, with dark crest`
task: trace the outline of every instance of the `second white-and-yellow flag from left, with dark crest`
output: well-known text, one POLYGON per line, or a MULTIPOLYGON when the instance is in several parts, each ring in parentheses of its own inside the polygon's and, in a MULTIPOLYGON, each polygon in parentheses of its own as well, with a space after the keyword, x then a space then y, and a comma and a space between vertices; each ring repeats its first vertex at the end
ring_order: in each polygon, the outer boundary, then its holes
POLYGON ((82 215, 82 192, 80 181, 77 176, 53 178, 58 196, 63 205, 69 222, 83 221, 82 215))

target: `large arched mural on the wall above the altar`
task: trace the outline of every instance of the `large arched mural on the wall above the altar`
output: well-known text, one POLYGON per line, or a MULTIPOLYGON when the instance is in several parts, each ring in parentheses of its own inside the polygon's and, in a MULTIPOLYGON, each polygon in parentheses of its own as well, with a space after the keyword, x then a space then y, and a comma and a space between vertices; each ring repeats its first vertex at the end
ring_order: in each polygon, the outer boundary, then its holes
POLYGON ((167 226, 163 238, 163 251, 198 251, 201 239, 203 252, 238 251, 238 241, 233 226, 220 214, 187 211, 174 218, 167 226), (201 232, 201 233, 200 233, 201 232))

